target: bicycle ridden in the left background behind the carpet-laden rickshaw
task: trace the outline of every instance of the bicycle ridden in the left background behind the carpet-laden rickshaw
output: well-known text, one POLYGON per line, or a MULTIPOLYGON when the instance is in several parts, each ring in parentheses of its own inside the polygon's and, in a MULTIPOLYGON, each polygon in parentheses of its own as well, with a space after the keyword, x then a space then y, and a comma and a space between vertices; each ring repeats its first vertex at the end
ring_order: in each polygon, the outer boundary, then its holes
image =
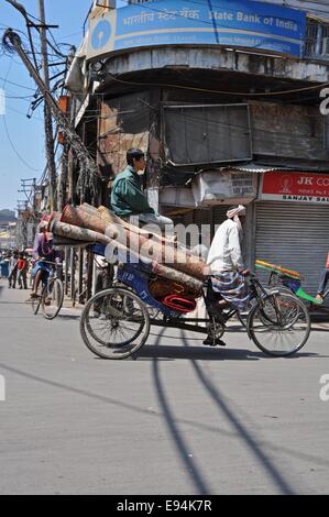
MULTIPOLYGON (((44 264, 58 266, 55 262, 40 261, 44 264)), ((64 286, 61 278, 58 278, 55 268, 53 268, 45 282, 43 282, 41 295, 32 298, 32 311, 36 316, 42 308, 43 317, 47 320, 53 320, 59 314, 64 301, 64 286)))

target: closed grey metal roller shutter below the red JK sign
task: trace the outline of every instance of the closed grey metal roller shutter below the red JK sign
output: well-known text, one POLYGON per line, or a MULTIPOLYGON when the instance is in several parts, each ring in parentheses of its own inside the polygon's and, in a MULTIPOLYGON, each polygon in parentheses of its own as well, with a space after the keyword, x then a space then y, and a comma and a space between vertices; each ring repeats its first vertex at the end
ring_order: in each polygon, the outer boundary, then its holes
POLYGON ((255 240, 256 258, 298 271, 304 289, 316 294, 329 252, 329 207, 257 202, 255 240))

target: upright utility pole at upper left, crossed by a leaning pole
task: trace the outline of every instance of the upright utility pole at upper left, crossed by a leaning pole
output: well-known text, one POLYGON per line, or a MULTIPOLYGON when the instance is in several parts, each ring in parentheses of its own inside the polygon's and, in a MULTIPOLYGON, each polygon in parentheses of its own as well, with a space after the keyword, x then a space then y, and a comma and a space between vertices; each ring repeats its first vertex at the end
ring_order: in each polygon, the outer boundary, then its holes
MULTIPOLYGON (((40 40, 41 40, 41 53, 42 53, 42 68, 44 85, 50 91, 50 68, 48 68, 48 48, 47 48, 47 29, 45 23, 45 9, 44 0, 39 0, 39 18, 40 18, 40 40)), ((48 165, 48 178, 50 178, 50 201, 51 211, 57 210, 56 199, 56 165, 55 165, 55 153, 54 153, 54 132, 53 132, 53 120, 52 110, 48 103, 44 102, 44 128, 45 128, 45 142, 46 142, 46 155, 48 165)))

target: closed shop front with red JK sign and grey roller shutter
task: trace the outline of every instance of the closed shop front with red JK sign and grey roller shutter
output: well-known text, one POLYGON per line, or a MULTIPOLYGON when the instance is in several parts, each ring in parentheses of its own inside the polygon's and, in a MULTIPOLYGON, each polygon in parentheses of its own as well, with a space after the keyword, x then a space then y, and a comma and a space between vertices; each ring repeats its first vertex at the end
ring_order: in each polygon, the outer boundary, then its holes
POLYGON ((267 172, 254 205, 255 258, 298 271, 315 295, 329 252, 329 174, 267 172))

